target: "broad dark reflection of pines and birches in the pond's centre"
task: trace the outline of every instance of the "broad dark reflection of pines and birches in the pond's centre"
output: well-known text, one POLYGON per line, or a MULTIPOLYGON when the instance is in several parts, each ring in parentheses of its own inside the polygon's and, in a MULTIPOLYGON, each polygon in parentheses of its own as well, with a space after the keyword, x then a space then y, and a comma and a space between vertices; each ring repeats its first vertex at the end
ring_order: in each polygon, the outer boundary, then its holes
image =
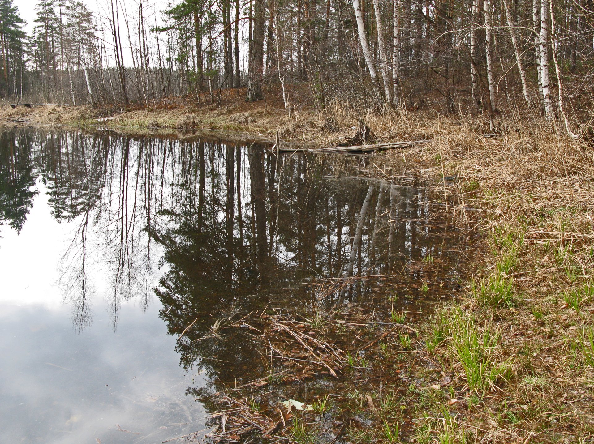
MULTIPOLYGON (((333 165, 314 156, 277 163, 261 147, 204 145, 194 159, 198 166, 185 168, 197 172, 187 183, 198 195, 185 194, 179 210, 160 211, 166 221, 151 231, 169 265, 155 289, 163 303, 160 316, 172 335, 192 325, 176 348, 186 369, 230 382, 260 367, 255 345, 241 329, 225 330, 222 338, 207 334, 232 307, 298 303, 275 288, 312 275, 342 275, 345 267, 355 274, 392 274, 402 269, 398 264, 428 253, 450 255, 444 237, 432 237, 445 236, 445 228, 429 228, 431 204, 417 189, 329 179, 333 165), (233 159, 240 169, 233 168, 233 159), (200 185, 204 177, 206 186, 200 185), (357 231, 360 236, 353 236, 357 231), (358 248, 352 251, 353 245, 358 248)), ((369 288, 352 290, 351 300, 365 297, 369 288)))

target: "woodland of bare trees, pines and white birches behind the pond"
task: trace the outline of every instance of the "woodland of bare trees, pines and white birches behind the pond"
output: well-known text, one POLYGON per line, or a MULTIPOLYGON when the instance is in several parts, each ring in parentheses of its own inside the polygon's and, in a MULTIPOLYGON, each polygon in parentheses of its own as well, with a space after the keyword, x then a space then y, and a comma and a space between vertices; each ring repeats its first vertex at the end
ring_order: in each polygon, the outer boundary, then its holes
POLYGON ((0 8, 0 91, 11 102, 200 104, 276 88, 287 110, 511 107, 570 134, 591 107, 588 0, 109 0, 99 12, 42 0, 31 34, 12 0, 0 8))

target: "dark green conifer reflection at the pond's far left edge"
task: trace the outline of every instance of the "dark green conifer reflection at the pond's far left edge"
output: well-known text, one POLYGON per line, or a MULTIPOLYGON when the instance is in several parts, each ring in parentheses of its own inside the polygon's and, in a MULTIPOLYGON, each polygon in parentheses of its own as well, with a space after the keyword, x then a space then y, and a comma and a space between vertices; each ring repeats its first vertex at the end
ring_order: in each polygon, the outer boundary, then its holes
POLYGON ((27 134, 0 132, 0 225, 21 231, 33 206, 34 164, 27 134))

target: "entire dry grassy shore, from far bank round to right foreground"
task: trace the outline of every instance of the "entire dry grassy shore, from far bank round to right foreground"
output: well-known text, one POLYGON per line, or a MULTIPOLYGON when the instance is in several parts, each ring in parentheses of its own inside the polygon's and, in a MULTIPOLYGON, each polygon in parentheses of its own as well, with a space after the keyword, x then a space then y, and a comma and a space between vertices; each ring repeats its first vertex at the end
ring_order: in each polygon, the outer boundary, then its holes
MULTIPOLYGON (((328 145, 352 135, 360 117, 380 141, 431 139, 381 154, 371 173, 384 179, 413 175, 432 183, 455 223, 482 230, 486 252, 463 294, 415 325, 410 342, 391 332, 392 337, 373 345, 378 348, 375 363, 367 361, 364 367, 406 372, 412 382, 405 390, 380 386, 336 401, 340 408, 366 411, 369 418, 365 427, 341 427, 340 440, 398 442, 400 431, 404 440, 419 443, 592 442, 590 144, 526 116, 500 117, 492 131, 480 119, 437 112, 361 116, 345 104, 331 107, 324 118, 311 110, 289 116, 282 100, 280 106, 278 100, 249 104, 238 97, 227 98, 221 107, 5 107, 0 125, 80 122, 147 133, 199 128, 266 139, 279 131, 283 140, 328 145), (113 119, 96 120, 105 117, 113 119), (485 137, 492 132, 493 137, 485 137), (453 180, 446 183, 443 177, 453 180), (481 208, 480 218, 469 215, 469 207, 481 208), (418 357, 407 360, 405 370, 403 353, 418 357)), ((324 352, 316 350, 324 361, 324 352)), ((318 405, 318 413, 323 408, 318 405)), ((286 424, 293 441, 315 442, 316 426, 300 424, 286 424)))

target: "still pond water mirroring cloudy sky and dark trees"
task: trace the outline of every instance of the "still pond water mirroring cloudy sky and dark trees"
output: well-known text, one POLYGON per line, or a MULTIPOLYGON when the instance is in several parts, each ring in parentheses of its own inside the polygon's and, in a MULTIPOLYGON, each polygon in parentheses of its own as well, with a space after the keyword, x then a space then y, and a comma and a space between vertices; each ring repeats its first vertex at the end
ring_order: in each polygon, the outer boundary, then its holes
POLYGON ((360 177, 361 157, 265 148, 0 131, 2 442, 208 429, 208 395, 266 367, 241 328, 208 335, 223 314, 390 300, 418 318, 457 291, 476 236, 424 189, 360 177))

